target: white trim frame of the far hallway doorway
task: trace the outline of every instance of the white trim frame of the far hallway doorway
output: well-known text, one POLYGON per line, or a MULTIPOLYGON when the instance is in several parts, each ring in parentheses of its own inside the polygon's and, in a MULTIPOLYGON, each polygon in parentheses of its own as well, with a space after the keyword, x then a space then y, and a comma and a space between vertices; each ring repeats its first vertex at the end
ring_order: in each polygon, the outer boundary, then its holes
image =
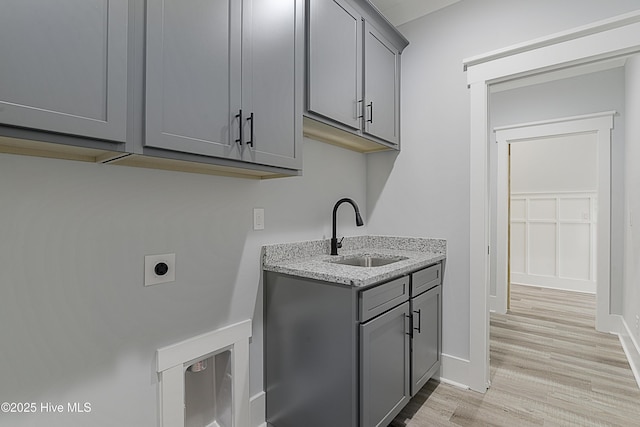
POLYGON ((597 138, 598 165, 598 227, 597 227, 597 276, 596 276, 596 329, 608 332, 610 306, 610 257, 611 257, 611 130, 615 111, 588 114, 563 119, 522 123, 494 128, 497 155, 497 195, 495 200, 496 226, 496 297, 493 309, 507 312, 507 287, 509 281, 509 145, 517 142, 536 141, 544 138, 577 134, 595 134, 597 138))

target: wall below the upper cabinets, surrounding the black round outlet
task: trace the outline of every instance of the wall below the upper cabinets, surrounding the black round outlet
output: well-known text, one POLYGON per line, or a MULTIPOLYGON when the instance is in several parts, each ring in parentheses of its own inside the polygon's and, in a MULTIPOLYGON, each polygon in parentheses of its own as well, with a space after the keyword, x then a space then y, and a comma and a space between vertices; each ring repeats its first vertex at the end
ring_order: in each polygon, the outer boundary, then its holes
MULTIPOLYGON (((267 181, 0 154, 0 402, 91 403, 0 426, 157 425, 156 349, 254 310, 262 391, 260 247, 330 237, 343 196, 366 224, 365 176, 364 155, 310 140, 302 177, 267 181), (145 288, 144 255, 169 252, 176 282, 145 288)), ((341 234, 366 233, 344 213, 341 234)))

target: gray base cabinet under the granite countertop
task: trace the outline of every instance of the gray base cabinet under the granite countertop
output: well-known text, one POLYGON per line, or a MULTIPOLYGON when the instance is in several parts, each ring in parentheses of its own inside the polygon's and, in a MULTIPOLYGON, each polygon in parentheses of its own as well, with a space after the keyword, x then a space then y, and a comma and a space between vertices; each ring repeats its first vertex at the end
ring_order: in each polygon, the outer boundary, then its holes
POLYGON ((269 427, 386 427, 440 367, 442 264, 359 288, 264 279, 269 427))

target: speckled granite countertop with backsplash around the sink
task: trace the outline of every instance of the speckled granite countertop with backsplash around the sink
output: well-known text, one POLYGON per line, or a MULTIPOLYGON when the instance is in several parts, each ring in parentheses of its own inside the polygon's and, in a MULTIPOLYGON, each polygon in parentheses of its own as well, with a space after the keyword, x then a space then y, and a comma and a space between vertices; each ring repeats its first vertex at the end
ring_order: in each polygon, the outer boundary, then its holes
POLYGON ((345 237, 339 255, 331 256, 330 240, 266 245, 262 247, 264 271, 291 276, 341 283, 350 286, 369 286, 419 270, 443 260, 447 256, 444 239, 395 236, 345 237), (328 262, 354 255, 373 255, 382 258, 406 259, 380 267, 358 267, 328 262))

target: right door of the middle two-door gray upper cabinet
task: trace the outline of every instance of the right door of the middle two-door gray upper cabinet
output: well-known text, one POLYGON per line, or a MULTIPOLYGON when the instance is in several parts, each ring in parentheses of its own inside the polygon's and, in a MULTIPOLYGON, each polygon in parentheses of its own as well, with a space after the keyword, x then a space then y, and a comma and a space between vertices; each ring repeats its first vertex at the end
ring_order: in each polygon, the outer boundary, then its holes
POLYGON ((242 159, 302 168, 303 0, 245 0, 242 159))

